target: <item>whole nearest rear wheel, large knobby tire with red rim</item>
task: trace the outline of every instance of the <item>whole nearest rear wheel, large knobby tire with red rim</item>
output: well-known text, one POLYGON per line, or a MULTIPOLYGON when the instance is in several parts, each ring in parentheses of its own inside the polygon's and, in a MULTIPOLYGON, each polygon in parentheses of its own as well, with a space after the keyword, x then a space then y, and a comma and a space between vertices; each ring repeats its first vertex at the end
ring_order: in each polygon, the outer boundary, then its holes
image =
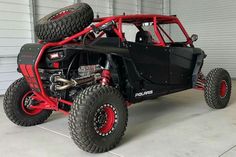
POLYGON ((94 85, 83 90, 74 100, 69 129, 79 148, 101 153, 120 142, 127 118, 127 106, 119 91, 110 86, 94 85), (105 120, 102 121, 102 117, 105 120))

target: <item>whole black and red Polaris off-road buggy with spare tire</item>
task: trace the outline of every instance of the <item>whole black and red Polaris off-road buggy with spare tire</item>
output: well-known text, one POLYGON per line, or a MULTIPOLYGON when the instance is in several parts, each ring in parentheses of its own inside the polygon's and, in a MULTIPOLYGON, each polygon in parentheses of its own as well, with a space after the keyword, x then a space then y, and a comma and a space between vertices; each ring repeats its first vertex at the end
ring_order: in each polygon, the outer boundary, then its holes
POLYGON ((197 35, 189 37, 176 16, 93 16, 79 3, 38 22, 40 41, 21 48, 17 63, 23 78, 5 94, 12 122, 37 125, 60 111, 69 115, 74 142, 95 153, 119 143, 130 104, 196 88, 210 107, 227 106, 229 73, 216 68, 204 77, 206 54, 194 47, 197 35), (126 25, 137 29, 134 41, 122 31, 126 25))

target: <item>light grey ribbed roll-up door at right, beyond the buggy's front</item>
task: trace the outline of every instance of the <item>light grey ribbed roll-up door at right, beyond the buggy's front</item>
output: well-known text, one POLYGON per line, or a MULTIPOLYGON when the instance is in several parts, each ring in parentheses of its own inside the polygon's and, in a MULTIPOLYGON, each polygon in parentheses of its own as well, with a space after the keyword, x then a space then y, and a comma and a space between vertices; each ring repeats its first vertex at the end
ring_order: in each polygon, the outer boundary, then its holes
POLYGON ((208 57, 204 72, 223 67, 236 78, 236 1, 178 0, 171 1, 171 14, 177 15, 189 34, 196 33, 196 46, 208 57))

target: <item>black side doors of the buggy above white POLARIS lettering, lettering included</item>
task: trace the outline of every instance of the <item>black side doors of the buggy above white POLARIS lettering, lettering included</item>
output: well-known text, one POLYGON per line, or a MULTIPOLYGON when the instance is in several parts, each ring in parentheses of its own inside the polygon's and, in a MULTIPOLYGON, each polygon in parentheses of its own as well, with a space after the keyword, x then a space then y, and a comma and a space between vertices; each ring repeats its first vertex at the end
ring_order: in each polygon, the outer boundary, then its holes
MULTIPOLYGON (((125 60, 130 85, 130 101, 156 98, 193 87, 193 72, 201 67, 196 60, 204 53, 191 47, 158 47, 128 42, 130 59, 125 60)), ((199 64, 204 57, 199 59, 199 64)))

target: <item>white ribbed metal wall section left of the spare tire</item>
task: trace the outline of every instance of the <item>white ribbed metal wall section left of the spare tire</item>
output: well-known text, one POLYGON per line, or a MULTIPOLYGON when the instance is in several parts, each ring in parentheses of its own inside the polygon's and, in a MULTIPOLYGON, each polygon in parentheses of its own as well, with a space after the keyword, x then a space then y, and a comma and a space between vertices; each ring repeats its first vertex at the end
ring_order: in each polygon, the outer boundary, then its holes
POLYGON ((21 75, 16 56, 31 41, 29 0, 0 0, 0 95, 21 75))

